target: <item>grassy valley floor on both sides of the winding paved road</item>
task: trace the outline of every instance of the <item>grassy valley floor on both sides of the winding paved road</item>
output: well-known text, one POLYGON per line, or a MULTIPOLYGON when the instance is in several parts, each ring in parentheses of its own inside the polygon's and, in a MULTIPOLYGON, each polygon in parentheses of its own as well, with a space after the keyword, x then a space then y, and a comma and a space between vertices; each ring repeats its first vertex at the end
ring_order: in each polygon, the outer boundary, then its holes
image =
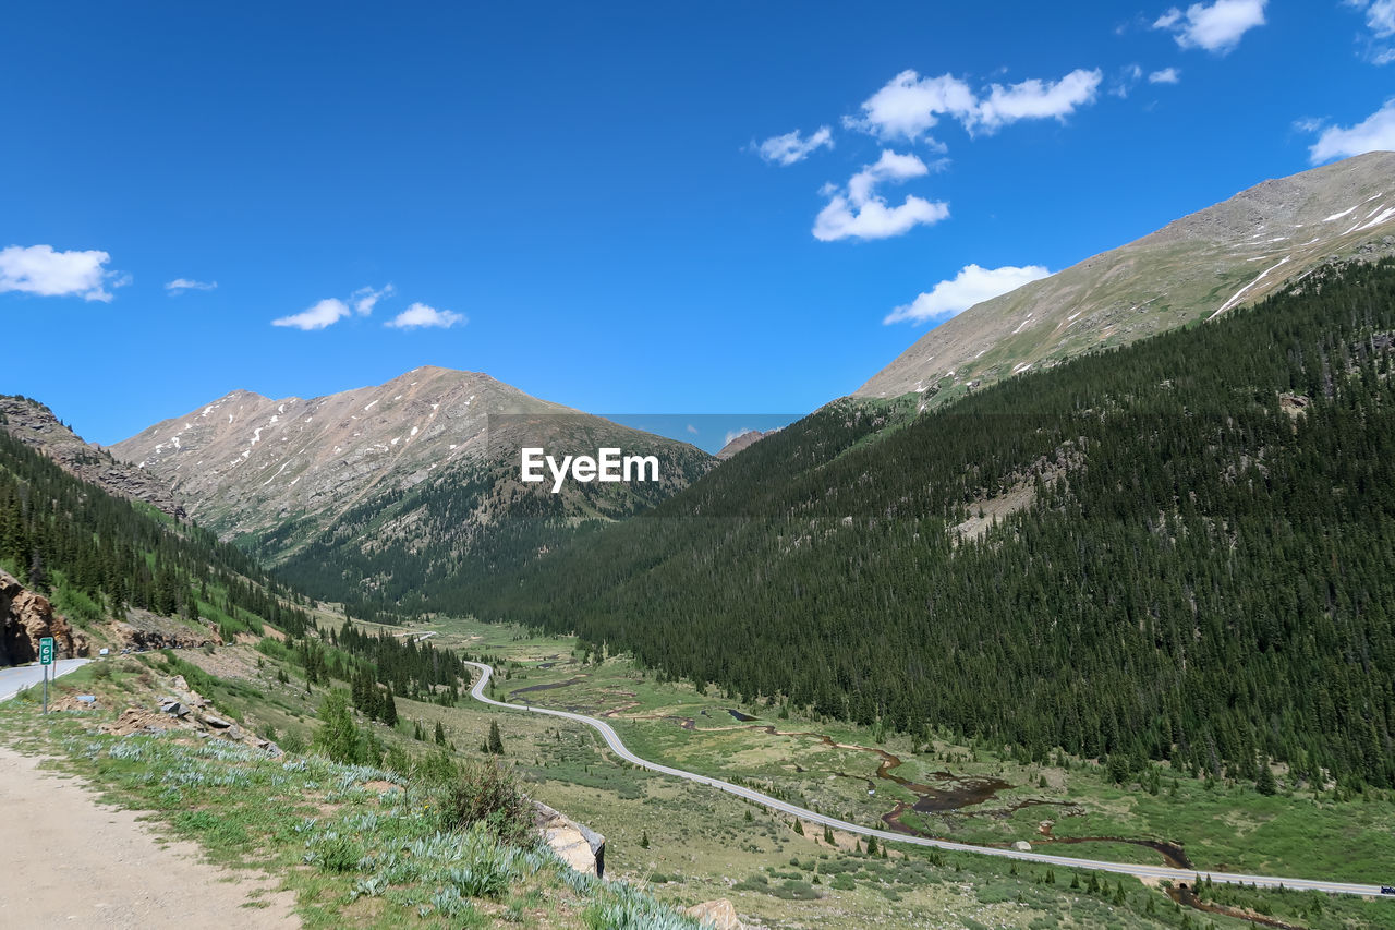
MULTIPOLYGON (((912 781, 929 781, 935 772, 951 769, 956 774, 995 775, 1023 786, 983 804, 985 810, 978 811, 983 815, 936 820, 936 825, 942 828, 937 832, 956 838, 1039 841, 1039 821, 1052 814, 1041 813, 1041 807, 1028 807, 1011 815, 1004 813, 1009 804, 1028 797, 1069 799, 1085 811, 1076 817, 1056 817, 1055 834, 1059 836, 1096 835, 1098 828, 1098 835, 1170 838, 1168 831, 1176 829, 1179 810, 1184 810, 1191 802, 1190 792, 1205 790, 1196 782, 1190 788, 1183 785, 1176 799, 1155 797, 1141 788, 1124 790, 1109 786, 1098 767, 1081 760, 1071 760, 1069 769, 1021 765, 982 746, 943 740, 935 740, 929 747, 911 746, 905 737, 829 721, 802 719, 798 714, 781 719, 778 707, 751 707, 720 693, 699 694, 689 684, 660 683, 624 659, 608 659, 600 665, 582 663, 573 654, 575 644, 566 638, 530 640, 522 628, 488 627, 462 620, 441 627, 425 624, 424 628, 442 630, 437 637, 438 645, 445 645, 449 641, 442 640, 451 637, 456 645, 463 645, 470 652, 502 656, 506 670, 501 666, 497 676, 494 693, 498 697, 536 684, 579 679, 566 687, 525 691, 511 700, 573 708, 593 715, 618 709, 608 719, 640 755, 751 783, 857 822, 875 824, 893 802, 912 799, 905 789, 875 778, 879 762, 876 755, 829 747, 809 737, 771 736, 732 719, 727 708, 759 716, 756 726, 769 723, 780 730, 826 733, 838 743, 884 748, 905 761, 896 772, 912 781), (543 660, 551 667, 538 667, 543 660), (685 730, 678 721, 665 718, 691 718, 695 729, 685 730), (918 751, 926 748, 929 751, 918 751), (1046 789, 1039 788, 1042 776, 1048 779, 1046 789), (876 786, 876 795, 870 799, 866 795, 866 779, 872 779, 876 786), (1156 817, 1154 822, 1159 832, 1151 832, 1152 824, 1140 811, 1152 811, 1149 815, 1156 817), (1070 829, 1066 828, 1067 824, 1071 825, 1070 829), (1074 828, 1077 824, 1080 829, 1074 828)), ((898 924, 914 923, 914 915, 921 915, 919 919, 932 922, 933 926, 936 917, 932 915, 956 913, 964 922, 944 926, 972 926, 972 922, 985 926, 1149 926, 1149 922, 1159 922, 1155 926, 1182 926, 1184 916, 1159 890, 1145 890, 1129 880, 1124 880, 1129 885, 1126 902, 1120 906, 1115 903, 1117 883, 1109 885, 1106 895, 1094 896, 1099 901, 1091 903, 1069 888, 1069 874, 1055 876, 1055 881, 1048 885, 1045 873, 1039 870, 1023 866, 1020 874, 1013 876, 1004 871, 1010 866, 983 857, 943 857, 942 862, 950 863, 949 866, 928 864, 926 853, 897 849, 889 863, 868 860, 865 853, 859 859, 859 853, 852 849, 852 836, 838 835, 836 845, 830 848, 822 842, 817 831, 809 828, 805 836, 795 835, 787 818, 771 817, 731 796, 617 765, 607 758, 590 730, 545 721, 538 733, 540 721, 531 715, 495 714, 478 705, 441 708, 439 714, 444 719, 456 721, 472 715, 497 716, 506 733, 508 728, 527 730, 531 744, 520 746, 516 737, 506 739, 511 755, 519 762, 525 778, 534 781, 540 786, 540 796, 552 806, 607 832, 610 867, 635 878, 647 876, 654 881, 654 894, 661 898, 693 901, 731 896, 738 910, 771 924, 787 920, 817 920, 827 926, 868 926, 873 922, 898 924), (749 821, 746 814, 751 814, 749 821), (650 838, 649 849, 640 848, 642 836, 650 838), (792 850, 827 857, 820 860, 819 884, 813 884, 810 876, 776 877, 767 871, 773 863, 787 860, 792 850), (949 869, 953 869, 953 874, 946 874, 949 869), (764 874, 766 881, 755 881, 752 877, 756 874, 764 874), (806 895, 802 887, 785 885, 787 881, 808 884, 813 895, 806 895), (1148 901, 1152 901, 1151 913, 1144 910, 1148 901), (970 903, 1000 910, 978 912, 970 903)), ((476 729, 480 726, 476 725, 476 729)), ((1239 796, 1242 789, 1235 792, 1239 796)), ((1250 796, 1258 797, 1253 790, 1250 796)), ((1232 799, 1232 806, 1235 800, 1232 799)), ((1282 803, 1283 799, 1268 800, 1282 803)), ((1371 811, 1388 813, 1391 804, 1373 797, 1368 807, 1371 811)), ((1350 804, 1343 803, 1341 809, 1339 814, 1350 813, 1350 804)), ((1375 852, 1370 856, 1373 867, 1378 867, 1381 862, 1380 843, 1385 838, 1377 834, 1380 817, 1384 815, 1373 815, 1362 827, 1375 841, 1375 852)), ((1189 834, 1186 842, 1189 852, 1193 852, 1194 846, 1205 850, 1209 841, 1198 831, 1189 834)), ((1239 845, 1239 841, 1233 842, 1239 845)), ((1209 848, 1221 849, 1218 843, 1209 848)), ((1159 862, 1158 853, 1123 843, 1055 845, 1049 849, 1053 853, 1119 862, 1159 862)), ((1250 856, 1254 857, 1256 852, 1251 850, 1250 856)), ((1306 862, 1311 863, 1314 859, 1307 856, 1306 862)), ((792 873, 788 866, 774 867, 792 873)), ((1334 867, 1341 867, 1341 863, 1334 867)), ((1253 894, 1268 899, 1271 892, 1253 894)), ((1306 912, 1313 906, 1325 906, 1324 916, 1311 926, 1395 926, 1395 908, 1387 906, 1388 903, 1327 899, 1324 905, 1311 905, 1304 899, 1293 908, 1306 912)), ((1275 903, 1267 906, 1279 908, 1275 903)), ((1194 910, 1187 910, 1186 915, 1196 916, 1197 926, 1246 923, 1222 916, 1202 916, 1194 910)))

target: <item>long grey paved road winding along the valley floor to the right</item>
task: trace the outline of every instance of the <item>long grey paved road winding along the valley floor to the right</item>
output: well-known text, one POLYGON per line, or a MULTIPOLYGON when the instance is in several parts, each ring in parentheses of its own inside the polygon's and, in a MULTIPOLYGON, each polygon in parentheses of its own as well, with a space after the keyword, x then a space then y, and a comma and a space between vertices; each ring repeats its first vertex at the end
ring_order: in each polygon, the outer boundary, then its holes
MULTIPOLYGON (((548 716, 561 716, 568 721, 576 721, 578 723, 585 723, 591 729, 600 732, 605 744, 612 753, 624 758, 626 762, 639 765, 640 768, 647 768, 651 772, 660 772, 663 775, 672 775, 674 778, 682 778, 689 782, 698 782, 700 785, 707 785, 718 790, 727 792, 728 795, 735 795, 737 797, 744 797, 746 800, 755 802, 762 807, 769 807, 770 810, 777 810, 799 820, 806 820, 815 824, 823 824, 834 829, 843 829, 850 834, 861 834, 862 836, 876 836, 880 842, 893 843, 910 843, 914 846, 932 846, 935 849, 950 849, 954 852, 970 852, 978 853, 981 856, 1000 856, 1003 859, 1017 859, 1023 862, 1035 862, 1050 866, 1064 866, 1067 869, 1085 869, 1092 871, 1110 871, 1120 876, 1134 876, 1138 878, 1169 878, 1173 883, 1187 883, 1193 884, 1198 873, 1186 871, 1182 869, 1169 869, 1166 866, 1136 866, 1130 863, 1120 862, 1101 862, 1095 859, 1074 859, 1071 856, 1052 856, 1049 853, 1039 852, 1018 852, 1016 849, 996 849, 993 846, 974 846, 971 843, 957 843, 949 839, 928 839, 925 836, 907 836, 905 834, 894 834, 887 829, 877 829, 876 827, 862 827, 861 824, 852 824, 845 820, 838 820, 837 817, 829 817, 827 814, 817 814, 812 810, 805 810, 804 807, 797 807, 790 802, 783 802, 778 797, 770 797, 769 795, 762 795, 760 792, 752 790, 749 788, 742 788, 741 785, 732 785, 731 782, 724 782, 720 778, 709 778, 707 775, 698 775, 696 772, 685 772, 681 768, 671 768, 668 765, 660 765, 658 762, 650 762, 649 760, 640 758, 625 748, 621 743, 619 736, 611 729, 610 723, 605 721, 598 721, 594 716, 586 716, 585 714, 572 714, 571 711, 554 711, 544 707, 520 707, 518 704, 505 704, 504 701, 495 701, 494 698, 484 697, 484 688, 488 686, 490 676, 494 669, 481 662, 466 662, 466 665, 473 666, 480 672, 480 680, 474 683, 470 688, 470 697, 484 704, 492 704, 494 707, 509 708, 515 711, 530 711, 533 714, 545 714, 548 716)), ((1300 891, 1325 891, 1338 895, 1375 895, 1380 896, 1378 885, 1362 885, 1350 884, 1342 881, 1320 881, 1311 878, 1283 878, 1276 876, 1243 876, 1239 873, 1225 871, 1225 873, 1201 873, 1208 876, 1215 883, 1225 884, 1254 884, 1262 887, 1278 887, 1296 888, 1300 891)))

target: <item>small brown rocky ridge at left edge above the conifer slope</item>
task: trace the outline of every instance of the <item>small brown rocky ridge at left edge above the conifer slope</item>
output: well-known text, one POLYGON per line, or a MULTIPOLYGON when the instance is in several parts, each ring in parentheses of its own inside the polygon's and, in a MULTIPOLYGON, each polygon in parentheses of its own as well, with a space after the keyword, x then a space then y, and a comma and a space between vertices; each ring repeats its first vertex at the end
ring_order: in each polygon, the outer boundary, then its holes
POLYGON ((109 494, 145 501, 176 519, 187 517, 184 504, 174 497, 169 485, 117 461, 106 450, 89 445, 38 401, 0 397, 0 429, 53 459, 67 473, 96 485, 109 494))

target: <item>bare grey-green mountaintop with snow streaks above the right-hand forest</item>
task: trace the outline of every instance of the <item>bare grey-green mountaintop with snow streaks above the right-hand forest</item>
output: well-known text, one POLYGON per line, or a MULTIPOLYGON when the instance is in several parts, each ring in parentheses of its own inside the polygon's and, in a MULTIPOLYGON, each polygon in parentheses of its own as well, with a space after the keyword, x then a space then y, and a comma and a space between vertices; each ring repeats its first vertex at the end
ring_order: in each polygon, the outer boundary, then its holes
POLYGON ((975 304, 858 388, 942 404, 1091 349, 1275 293, 1324 264, 1395 254, 1395 152, 1268 180, 1113 251, 975 304))

